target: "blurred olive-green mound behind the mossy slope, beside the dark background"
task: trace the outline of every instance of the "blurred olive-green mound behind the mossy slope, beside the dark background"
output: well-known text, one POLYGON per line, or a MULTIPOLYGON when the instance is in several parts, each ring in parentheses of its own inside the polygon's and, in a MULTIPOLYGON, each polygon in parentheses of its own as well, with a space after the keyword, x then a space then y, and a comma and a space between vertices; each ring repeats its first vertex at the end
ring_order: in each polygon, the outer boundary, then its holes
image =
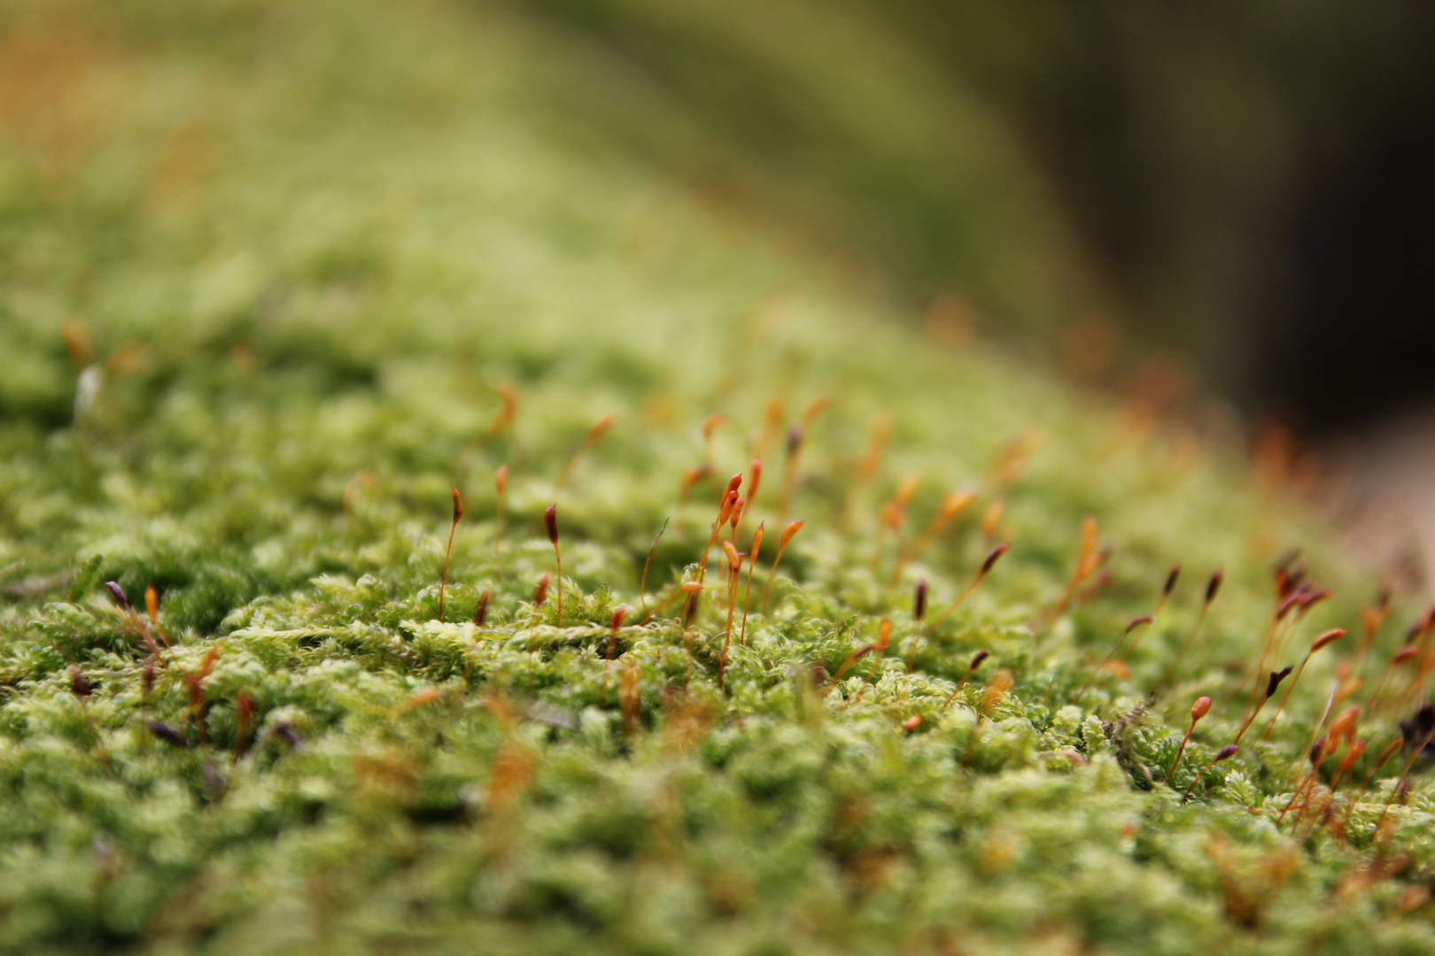
MULTIPOLYGON (((654 130, 629 100, 584 106, 667 171, 782 228, 839 241, 870 282, 921 305, 960 292, 987 327, 1038 341, 1109 310, 1049 172, 1012 116, 954 82, 895 9, 864 3, 552 0, 692 119, 654 130)), ((940 17, 938 17, 940 19, 940 17)))

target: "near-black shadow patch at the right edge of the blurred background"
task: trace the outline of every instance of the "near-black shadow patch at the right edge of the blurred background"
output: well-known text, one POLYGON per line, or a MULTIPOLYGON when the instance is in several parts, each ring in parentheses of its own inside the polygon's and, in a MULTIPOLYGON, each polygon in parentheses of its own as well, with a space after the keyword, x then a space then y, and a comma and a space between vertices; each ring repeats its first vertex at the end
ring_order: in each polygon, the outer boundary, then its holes
POLYGON ((1254 397, 1297 424, 1368 424, 1435 384, 1435 97, 1302 191, 1292 278, 1260 343, 1254 397))

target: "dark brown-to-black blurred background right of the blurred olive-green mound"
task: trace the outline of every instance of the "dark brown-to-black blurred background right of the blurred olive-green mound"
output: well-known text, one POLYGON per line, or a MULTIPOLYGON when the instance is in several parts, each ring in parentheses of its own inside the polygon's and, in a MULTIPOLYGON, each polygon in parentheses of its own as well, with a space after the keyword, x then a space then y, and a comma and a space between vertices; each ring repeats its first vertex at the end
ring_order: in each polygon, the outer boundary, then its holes
POLYGON ((1316 431, 1435 387, 1429 4, 901 6, 1214 384, 1316 431))

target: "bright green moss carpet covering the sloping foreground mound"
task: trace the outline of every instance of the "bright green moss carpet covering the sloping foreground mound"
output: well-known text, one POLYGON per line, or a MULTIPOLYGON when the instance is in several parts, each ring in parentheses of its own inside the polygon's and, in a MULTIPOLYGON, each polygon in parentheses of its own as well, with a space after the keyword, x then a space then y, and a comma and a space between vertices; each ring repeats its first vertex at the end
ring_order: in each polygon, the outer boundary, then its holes
POLYGON ((1279 482, 644 165, 584 97, 702 130, 532 11, 3 16, 6 952, 1435 950, 1419 608, 1359 655, 1279 482))

